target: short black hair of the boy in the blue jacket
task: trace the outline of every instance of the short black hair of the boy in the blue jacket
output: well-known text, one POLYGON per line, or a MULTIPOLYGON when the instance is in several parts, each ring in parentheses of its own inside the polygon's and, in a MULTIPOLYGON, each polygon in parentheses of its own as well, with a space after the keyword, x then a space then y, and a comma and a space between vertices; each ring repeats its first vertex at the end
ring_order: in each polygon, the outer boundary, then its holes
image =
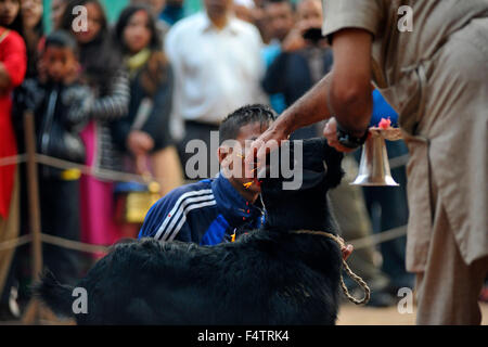
POLYGON ((243 106, 222 120, 219 127, 220 144, 226 140, 235 140, 241 128, 253 123, 268 127, 277 119, 274 112, 267 105, 254 104, 243 106))

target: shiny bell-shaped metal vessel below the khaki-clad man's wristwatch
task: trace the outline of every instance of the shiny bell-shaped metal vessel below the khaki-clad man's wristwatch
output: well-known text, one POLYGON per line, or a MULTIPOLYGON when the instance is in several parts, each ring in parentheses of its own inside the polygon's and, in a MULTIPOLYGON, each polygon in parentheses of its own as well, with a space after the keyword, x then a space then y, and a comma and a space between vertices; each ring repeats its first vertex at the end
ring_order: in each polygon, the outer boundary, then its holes
POLYGON ((370 133, 371 136, 362 146, 358 177, 350 184, 398 187, 399 184, 395 182, 389 170, 384 131, 372 128, 370 133))

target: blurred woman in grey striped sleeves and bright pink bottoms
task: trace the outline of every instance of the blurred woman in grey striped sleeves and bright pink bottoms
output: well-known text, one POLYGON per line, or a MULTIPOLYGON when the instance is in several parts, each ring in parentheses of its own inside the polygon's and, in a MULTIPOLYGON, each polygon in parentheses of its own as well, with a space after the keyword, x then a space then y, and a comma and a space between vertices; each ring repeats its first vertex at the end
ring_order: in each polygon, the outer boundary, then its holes
MULTIPOLYGON (((112 139, 114 120, 127 116, 129 79, 120 53, 113 43, 107 18, 98 0, 73 0, 66 7, 62 28, 72 33, 79 46, 81 81, 90 87, 94 102, 89 123, 81 132, 87 150, 86 165, 94 172, 100 169, 119 170, 121 159, 112 139), (72 26, 73 9, 87 9, 87 30, 72 26)), ((91 244, 110 245, 119 239, 114 221, 113 181, 93 176, 81 177, 81 240, 91 244)))

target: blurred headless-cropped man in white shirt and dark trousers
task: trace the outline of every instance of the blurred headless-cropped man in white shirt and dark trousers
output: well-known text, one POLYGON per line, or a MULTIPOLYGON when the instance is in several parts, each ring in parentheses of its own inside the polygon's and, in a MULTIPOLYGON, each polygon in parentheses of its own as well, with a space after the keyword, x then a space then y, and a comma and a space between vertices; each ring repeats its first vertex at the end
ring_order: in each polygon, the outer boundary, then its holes
MULTIPOLYGON (((182 134, 178 120, 184 121, 180 149, 183 162, 193 155, 185 153, 188 141, 201 139, 207 144, 207 153, 215 153, 210 131, 217 131, 228 114, 246 104, 267 102, 260 87, 265 67, 258 29, 233 15, 232 0, 204 3, 206 11, 178 22, 165 42, 175 72, 176 137, 182 134)), ((210 177, 218 171, 207 172, 210 177)))

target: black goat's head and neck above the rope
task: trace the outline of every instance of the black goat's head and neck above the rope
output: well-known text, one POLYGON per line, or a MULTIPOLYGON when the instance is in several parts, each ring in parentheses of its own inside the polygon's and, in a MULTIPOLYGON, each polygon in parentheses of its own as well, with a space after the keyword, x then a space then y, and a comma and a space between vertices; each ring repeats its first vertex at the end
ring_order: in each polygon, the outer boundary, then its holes
POLYGON ((341 183, 343 154, 324 139, 292 141, 259 172, 269 228, 337 230, 326 192, 341 183))

